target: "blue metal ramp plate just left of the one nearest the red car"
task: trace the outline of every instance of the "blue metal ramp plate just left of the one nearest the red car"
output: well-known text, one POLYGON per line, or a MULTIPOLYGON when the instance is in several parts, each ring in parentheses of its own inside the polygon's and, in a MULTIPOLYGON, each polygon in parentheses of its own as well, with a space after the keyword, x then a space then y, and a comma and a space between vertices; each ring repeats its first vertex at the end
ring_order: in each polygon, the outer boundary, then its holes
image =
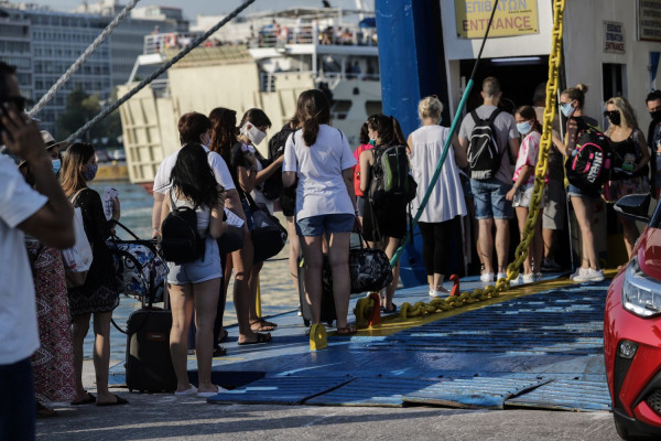
POLYGON ((508 398, 548 381, 550 380, 538 378, 455 378, 407 394, 402 400, 419 405, 440 405, 464 409, 502 409, 508 398))

